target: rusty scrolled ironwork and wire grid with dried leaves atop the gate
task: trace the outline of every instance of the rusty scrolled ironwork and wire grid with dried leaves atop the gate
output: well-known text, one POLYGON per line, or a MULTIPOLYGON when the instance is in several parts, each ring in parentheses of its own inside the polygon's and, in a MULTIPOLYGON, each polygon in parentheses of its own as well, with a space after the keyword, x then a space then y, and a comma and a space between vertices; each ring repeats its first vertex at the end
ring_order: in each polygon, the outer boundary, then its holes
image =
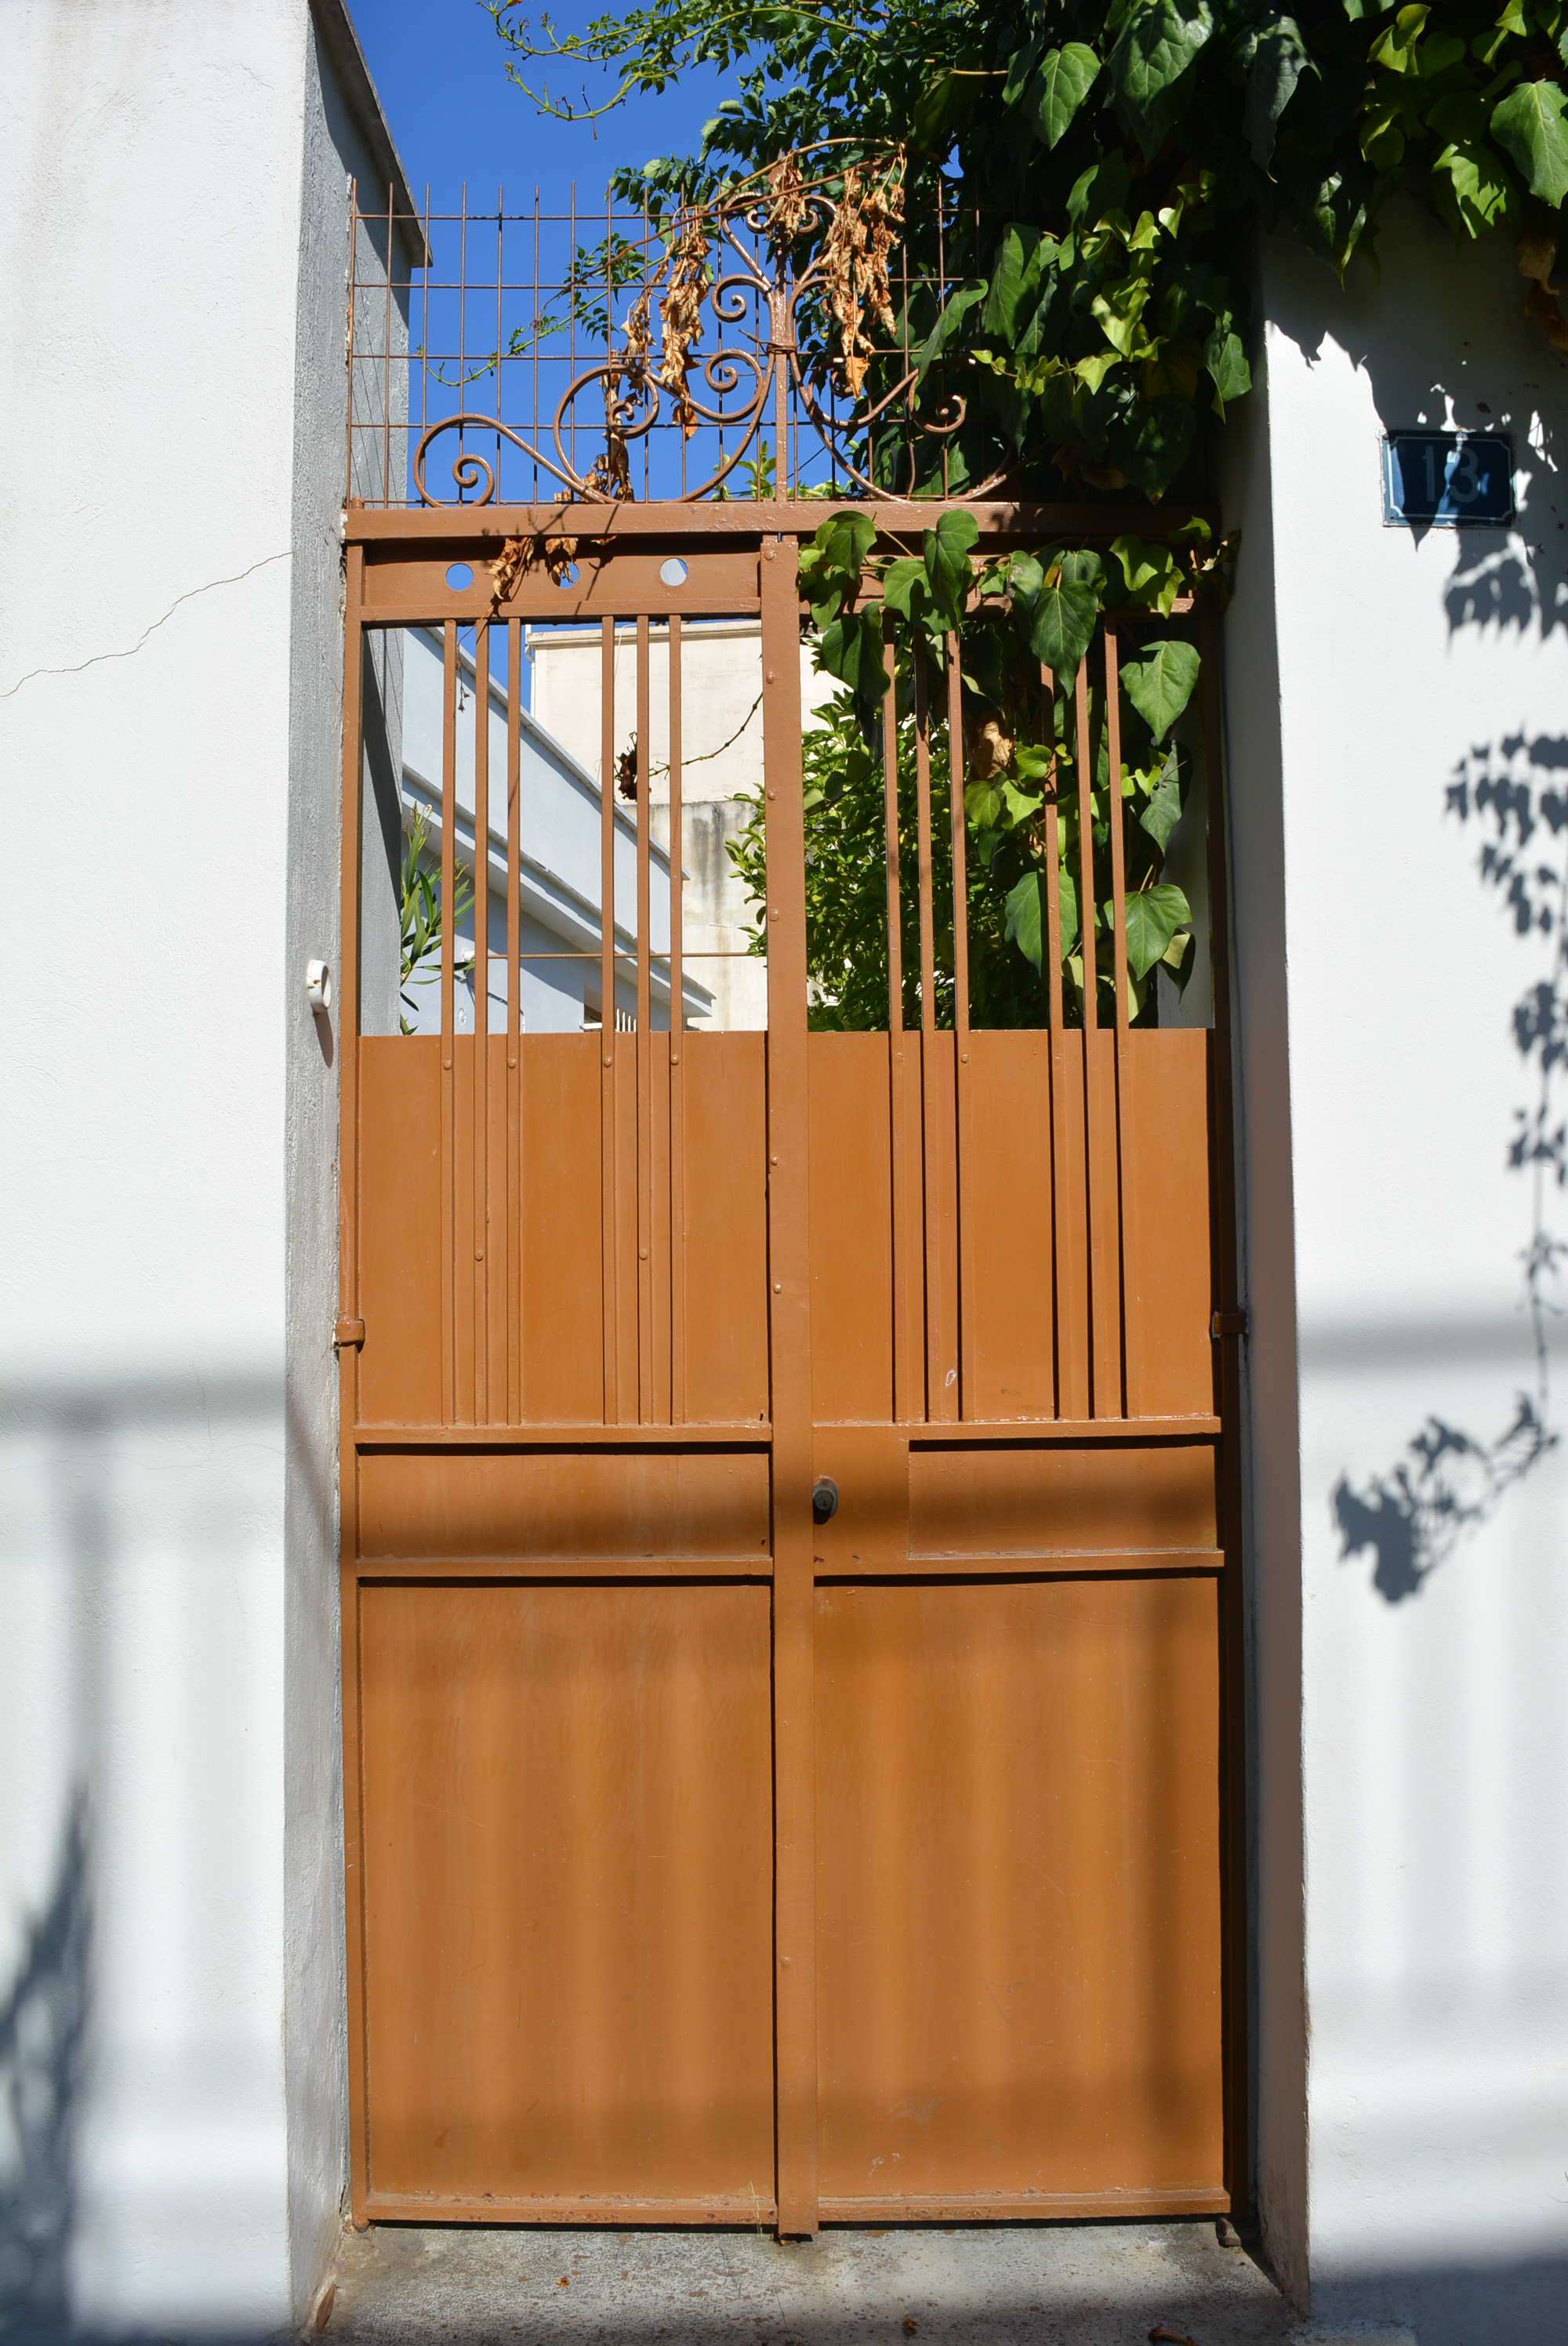
MULTIPOLYGON (((392 251, 408 232, 427 253, 418 298, 418 413, 394 420, 392 272, 385 317, 350 277, 350 479, 380 476, 380 504, 488 507, 530 500, 664 497, 699 502, 763 486, 768 450, 779 495, 831 469, 854 495, 899 497, 937 476, 965 399, 911 347, 911 303, 941 305, 955 286, 937 221, 937 272, 908 258, 904 169, 861 167, 859 195, 831 152, 786 157, 711 202, 641 211, 458 213, 399 209, 397 192, 350 199, 350 237, 373 225, 392 251), (800 169, 803 167, 803 169, 800 169), (779 176, 786 171, 789 176, 779 176), (833 192, 838 190, 838 192, 833 192), (843 260, 854 237, 854 272, 843 260), (479 303, 495 331, 472 347, 479 303), (852 312, 852 326, 850 326, 852 312), (826 321, 840 319, 833 338, 826 321), (380 335, 380 340, 378 340, 380 335), (843 347, 831 347, 843 345, 843 347), (878 389, 861 396, 866 359, 878 389), (359 378, 373 396, 359 401, 359 378), (866 429, 897 446, 866 469, 866 429), (516 483, 516 486, 514 486, 516 483)), ((357 258, 354 258, 357 270, 357 258)), ((967 483, 974 495, 1000 474, 967 483)))

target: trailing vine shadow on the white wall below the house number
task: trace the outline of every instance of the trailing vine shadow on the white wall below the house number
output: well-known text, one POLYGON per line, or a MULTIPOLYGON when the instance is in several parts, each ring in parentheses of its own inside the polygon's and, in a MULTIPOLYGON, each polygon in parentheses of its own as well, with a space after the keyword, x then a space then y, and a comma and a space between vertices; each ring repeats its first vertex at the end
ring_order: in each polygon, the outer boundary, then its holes
POLYGON ((1514 1049, 1535 1096, 1514 1110, 1505 1152, 1507 1168, 1530 1185, 1521 1311, 1530 1321, 1535 1391, 1514 1396, 1514 1415, 1495 1440, 1430 1417, 1404 1457, 1361 1490, 1340 1476, 1331 1497, 1340 1562, 1371 1548, 1373 1588, 1390 1605, 1415 1595, 1561 1440, 1549 1424, 1547 1328, 1561 1309, 1554 1290, 1568 1241, 1547 1215, 1568 1189, 1568 1110, 1559 1091, 1568 1067, 1568 737, 1509 734, 1472 748, 1448 784, 1446 812, 1481 826, 1481 884, 1495 891, 1516 936, 1542 941, 1542 974, 1512 1013, 1514 1049))

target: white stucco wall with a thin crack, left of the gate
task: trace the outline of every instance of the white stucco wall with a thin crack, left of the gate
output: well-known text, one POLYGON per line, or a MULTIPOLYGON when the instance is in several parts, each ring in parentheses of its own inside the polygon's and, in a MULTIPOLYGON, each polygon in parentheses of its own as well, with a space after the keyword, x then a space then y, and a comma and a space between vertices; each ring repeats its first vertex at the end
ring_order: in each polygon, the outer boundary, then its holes
POLYGON ((336 938, 350 148, 307 0, 0 9, 21 2334, 282 2330, 338 2226, 336 1072, 293 964, 336 938))

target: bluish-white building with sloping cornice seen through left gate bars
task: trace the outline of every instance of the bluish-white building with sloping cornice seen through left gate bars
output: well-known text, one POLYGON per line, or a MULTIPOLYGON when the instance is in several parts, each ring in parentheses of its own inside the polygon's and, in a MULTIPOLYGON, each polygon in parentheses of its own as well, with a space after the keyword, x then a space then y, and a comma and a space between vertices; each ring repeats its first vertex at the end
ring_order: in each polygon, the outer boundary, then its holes
MULTIPOLYGON (((441 638, 427 629, 404 629, 404 741, 401 798, 404 823, 425 814, 430 863, 439 863, 441 842, 441 638)), ((458 650, 458 723, 455 784, 458 823, 455 861, 474 875, 474 739, 479 685, 474 655, 458 650)), ((526 1035, 563 1035, 599 1025, 603 1018, 601 917, 603 894, 603 812, 599 774, 589 774, 561 741, 523 708, 519 713, 519 943, 521 943, 521 1023, 526 1035)), ((488 1025, 498 1032, 507 1016, 507 685, 491 676, 488 711, 488 1025)), ((653 1025, 669 1028, 669 854, 653 840, 648 854, 650 910, 650 992, 653 1025)), ((481 934, 474 903, 458 915, 453 929, 458 1032, 474 1030, 474 936, 481 934)), ((690 934, 690 924, 688 924, 690 934)), ((615 1021, 636 1018, 636 809, 615 807, 615 1021)), ((683 1016, 709 1021, 714 999, 707 985, 685 978, 683 1016)), ((439 960, 430 957, 404 988, 404 1016, 411 1032, 441 1030, 439 960)))

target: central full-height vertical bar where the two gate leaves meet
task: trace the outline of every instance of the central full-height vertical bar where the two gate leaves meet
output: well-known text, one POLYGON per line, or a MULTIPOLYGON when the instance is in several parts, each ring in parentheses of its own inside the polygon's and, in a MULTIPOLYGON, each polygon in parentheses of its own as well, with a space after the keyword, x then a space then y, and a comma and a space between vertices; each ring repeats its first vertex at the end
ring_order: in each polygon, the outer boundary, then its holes
POLYGON ((772 1377, 775 2064, 782 2233, 817 2231, 817 1588, 807 1220, 805 814, 796 544, 763 544, 768 1286, 772 1377))

